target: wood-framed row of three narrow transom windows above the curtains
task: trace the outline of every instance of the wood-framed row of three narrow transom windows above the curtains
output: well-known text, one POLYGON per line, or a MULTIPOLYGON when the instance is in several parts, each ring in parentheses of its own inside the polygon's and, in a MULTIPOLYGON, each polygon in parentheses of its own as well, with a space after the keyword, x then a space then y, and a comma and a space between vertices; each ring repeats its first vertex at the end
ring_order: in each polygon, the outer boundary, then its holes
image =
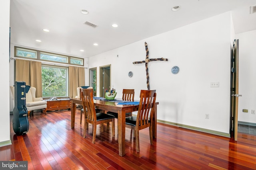
POLYGON ((48 53, 34 49, 26 49, 23 47, 14 47, 15 56, 20 58, 29 58, 35 60, 51 61, 54 63, 66 63, 71 65, 84 66, 84 59, 78 57, 71 57, 66 55, 48 53))

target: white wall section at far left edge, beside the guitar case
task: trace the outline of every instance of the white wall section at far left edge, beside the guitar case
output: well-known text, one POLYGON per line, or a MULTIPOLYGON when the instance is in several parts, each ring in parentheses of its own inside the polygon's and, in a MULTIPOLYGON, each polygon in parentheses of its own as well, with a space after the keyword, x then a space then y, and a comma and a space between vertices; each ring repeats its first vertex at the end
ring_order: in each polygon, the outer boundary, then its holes
POLYGON ((0 26, 0 94, 1 112, 0 112, 0 147, 9 145, 10 141, 10 112, 9 112, 9 27, 10 27, 10 0, 1 1, 0 6, 1 26, 0 26))

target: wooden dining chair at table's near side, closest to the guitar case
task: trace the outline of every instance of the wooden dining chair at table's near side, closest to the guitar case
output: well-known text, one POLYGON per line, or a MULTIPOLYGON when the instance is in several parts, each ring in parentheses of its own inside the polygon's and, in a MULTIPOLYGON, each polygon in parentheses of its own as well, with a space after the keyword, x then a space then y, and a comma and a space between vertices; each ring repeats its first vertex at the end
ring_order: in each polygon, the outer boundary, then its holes
POLYGON ((115 137, 114 116, 106 113, 96 113, 93 102, 93 89, 82 89, 81 98, 84 109, 84 138, 86 137, 87 123, 93 125, 92 143, 95 143, 96 127, 102 124, 101 132, 103 132, 103 123, 112 122, 112 137, 115 137))

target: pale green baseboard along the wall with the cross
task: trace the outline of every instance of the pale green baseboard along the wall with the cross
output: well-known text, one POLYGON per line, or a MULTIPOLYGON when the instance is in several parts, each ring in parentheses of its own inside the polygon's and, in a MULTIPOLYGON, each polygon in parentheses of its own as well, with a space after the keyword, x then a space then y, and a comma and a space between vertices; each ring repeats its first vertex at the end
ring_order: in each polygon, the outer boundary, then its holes
POLYGON ((159 119, 157 119, 157 121, 159 123, 164 123, 164 124, 168 124, 168 125, 183 127, 183 128, 186 128, 186 129, 191 129, 191 130, 195 130, 195 131, 200 131, 200 132, 205 132, 205 133, 210 133, 210 134, 213 134, 213 135, 218 135, 218 136, 223 136, 223 137, 230 138, 229 133, 223 133, 223 132, 219 132, 219 131, 213 131, 213 130, 209 130, 209 129, 194 127, 194 126, 189 126, 189 125, 183 125, 183 124, 180 124, 180 123, 174 123, 174 122, 164 121, 164 120, 159 120, 159 119))

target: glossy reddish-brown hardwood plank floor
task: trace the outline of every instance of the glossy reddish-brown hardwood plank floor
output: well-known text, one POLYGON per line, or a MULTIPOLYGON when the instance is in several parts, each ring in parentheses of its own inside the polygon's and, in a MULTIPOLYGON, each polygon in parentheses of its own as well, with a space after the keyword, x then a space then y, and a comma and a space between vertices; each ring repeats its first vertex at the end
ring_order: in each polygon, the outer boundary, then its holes
MULTIPOLYGON (((256 169, 256 136, 238 133, 238 141, 158 123, 157 139, 150 145, 149 130, 140 130, 140 152, 130 129, 126 128, 126 154, 118 155, 116 137, 111 126, 92 144, 92 125, 83 138, 80 111, 75 128, 70 128, 71 111, 34 112, 29 131, 17 136, 11 125, 12 145, 0 147, 0 160, 27 160, 28 170, 150 170, 150 169, 256 169)), ((10 117, 12 121, 12 115, 10 117)), ((84 122, 82 121, 82 124, 84 122)), ((116 120, 117 125, 117 120, 116 120)))

